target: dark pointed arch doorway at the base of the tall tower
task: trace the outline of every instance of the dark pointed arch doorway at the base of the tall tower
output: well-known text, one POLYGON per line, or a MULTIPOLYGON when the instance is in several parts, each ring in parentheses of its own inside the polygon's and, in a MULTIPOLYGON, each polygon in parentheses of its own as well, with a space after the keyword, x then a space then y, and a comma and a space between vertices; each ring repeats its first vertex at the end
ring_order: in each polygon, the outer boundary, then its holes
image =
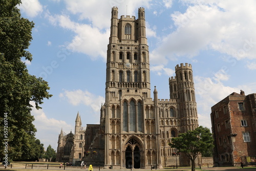
POLYGON ((141 145, 134 138, 125 144, 125 168, 141 168, 141 145))

